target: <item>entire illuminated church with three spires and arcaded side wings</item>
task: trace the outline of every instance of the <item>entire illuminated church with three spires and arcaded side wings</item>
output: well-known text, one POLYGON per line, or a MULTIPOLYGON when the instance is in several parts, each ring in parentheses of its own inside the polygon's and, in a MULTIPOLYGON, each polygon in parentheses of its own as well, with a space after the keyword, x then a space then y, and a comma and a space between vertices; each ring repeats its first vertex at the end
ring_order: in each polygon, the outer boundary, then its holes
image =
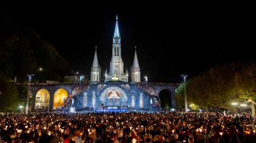
POLYGON ((62 108, 65 106, 65 99, 72 100, 72 107, 78 108, 99 108, 107 106, 114 108, 133 109, 161 109, 160 99, 157 96, 161 90, 167 89, 171 92, 171 107, 175 108, 174 90, 176 85, 149 85, 140 83, 140 67, 135 48, 134 62, 131 67, 131 81, 128 81, 128 71, 123 70, 121 58, 121 36, 116 16, 116 26, 112 43, 112 57, 109 71, 106 70, 104 81, 100 81, 101 68, 97 60, 97 47, 90 72, 90 83, 51 86, 31 86, 33 101, 31 108, 62 108), (63 90, 63 92, 60 91, 63 90), (59 92, 59 94, 58 94, 59 92), (43 96, 44 95, 44 96, 43 96), (70 97, 72 96, 72 98, 70 97), (157 105, 157 106, 156 106, 157 105))

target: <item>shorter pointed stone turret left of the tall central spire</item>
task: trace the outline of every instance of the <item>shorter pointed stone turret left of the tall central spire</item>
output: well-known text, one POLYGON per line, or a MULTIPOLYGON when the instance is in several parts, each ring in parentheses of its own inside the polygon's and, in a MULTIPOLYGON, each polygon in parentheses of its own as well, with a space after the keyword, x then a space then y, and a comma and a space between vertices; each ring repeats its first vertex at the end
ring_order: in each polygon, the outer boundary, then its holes
POLYGON ((91 68, 91 82, 99 82, 100 81, 100 66, 98 64, 97 58, 97 46, 95 46, 95 55, 92 62, 91 68))

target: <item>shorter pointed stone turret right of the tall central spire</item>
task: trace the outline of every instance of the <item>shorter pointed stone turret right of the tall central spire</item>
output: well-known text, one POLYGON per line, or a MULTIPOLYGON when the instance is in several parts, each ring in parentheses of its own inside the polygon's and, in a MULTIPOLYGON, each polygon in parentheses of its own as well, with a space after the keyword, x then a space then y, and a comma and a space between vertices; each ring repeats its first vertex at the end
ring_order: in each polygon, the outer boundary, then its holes
POLYGON ((134 61, 133 61, 133 66, 132 66, 132 81, 133 82, 140 82, 140 66, 137 58, 137 53, 136 53, 136 46, 135 46, 135 55, 134 55, 134 61))

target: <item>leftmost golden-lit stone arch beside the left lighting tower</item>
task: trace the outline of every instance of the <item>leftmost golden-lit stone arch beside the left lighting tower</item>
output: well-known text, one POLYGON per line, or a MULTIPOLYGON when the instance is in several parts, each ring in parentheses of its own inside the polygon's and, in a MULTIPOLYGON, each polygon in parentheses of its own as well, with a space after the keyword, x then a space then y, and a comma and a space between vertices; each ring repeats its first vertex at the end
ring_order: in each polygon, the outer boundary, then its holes
POLYGON ((48 109, 50 106, 50 91, 42 88, 36 92, 35 97, 35 108, 38 109, 48 109))

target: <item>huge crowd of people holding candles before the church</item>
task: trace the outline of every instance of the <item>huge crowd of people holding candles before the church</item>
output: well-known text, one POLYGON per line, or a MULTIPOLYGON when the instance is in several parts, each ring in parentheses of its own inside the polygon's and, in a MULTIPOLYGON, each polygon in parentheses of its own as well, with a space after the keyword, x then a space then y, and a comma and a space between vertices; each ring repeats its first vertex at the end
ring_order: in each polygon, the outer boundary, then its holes
POLYGON ((1 113, 0 143, 256 143, 250 113, 1 113))

